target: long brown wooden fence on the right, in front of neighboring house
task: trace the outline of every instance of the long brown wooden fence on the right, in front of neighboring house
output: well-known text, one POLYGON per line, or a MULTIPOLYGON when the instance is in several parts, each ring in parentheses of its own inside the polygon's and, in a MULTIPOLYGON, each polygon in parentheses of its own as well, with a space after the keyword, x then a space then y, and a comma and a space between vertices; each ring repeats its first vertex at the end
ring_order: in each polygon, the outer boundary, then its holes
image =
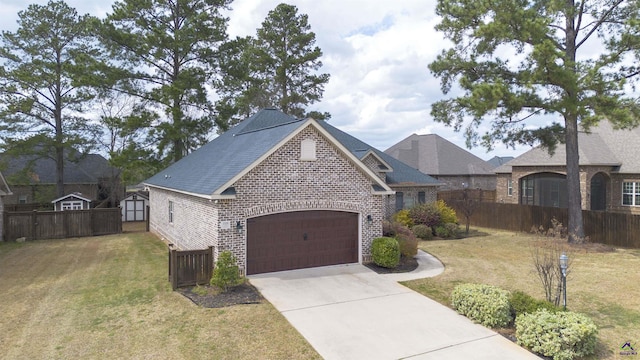
MULTIPOLYGON (((460 215, 462 202, 454 200, 447 204, 459 214, 460 223, 464 223, 466 220, 460 215)), ((566 227, 569 212, 567 209, 554 207, 478 202, 470 223, 494 229, 530 232, 533 227, 549 229, 552 218, 566 227)), ((585 235, 591 242, 640 248, 640 215, 583 210, 582 218, 585 235)))

